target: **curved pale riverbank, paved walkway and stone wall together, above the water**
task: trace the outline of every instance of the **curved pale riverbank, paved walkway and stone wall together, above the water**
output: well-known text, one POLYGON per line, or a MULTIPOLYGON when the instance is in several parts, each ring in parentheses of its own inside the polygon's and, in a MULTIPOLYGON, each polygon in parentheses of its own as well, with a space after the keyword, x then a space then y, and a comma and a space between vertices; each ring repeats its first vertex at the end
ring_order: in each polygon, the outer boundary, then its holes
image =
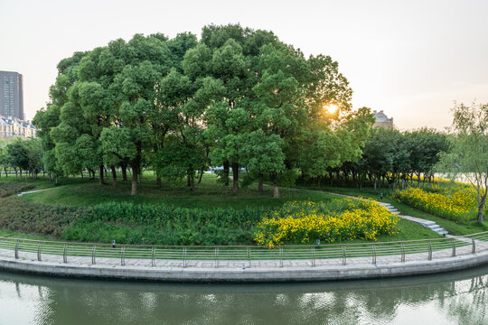
MULTIPOLYGON (((122 255, 118 257, 108 255, 108 250, 99 252, 97 255, 97 246, 93 246, 91 255, 83 255, 80 253, 80 249, 74 251, 72 247, 68 248, 67 245, 64 246, 64 254, 56 255, 42 254, 42 243, 32 241, 31 244, 32 247, 37 244, 36 253, 20 251, 18 249, 19 242, 16 242, 14 250, 0 249, 0 269, 10 272, 61 277, 131 281, 272 283, 437 274, 488 264, 487 233, 477 234, 475 237, 455 237, 396 244, 377 243, 369 247, 335 246, 338 248, 336 251, 343 252, 343 256, 332 256, 330 258, 324 258, 324 256, 321 258, 318 249, 334 246, 318 246, 316 250, 311 249, 312 255, 306 259, 303 257, 303 251, 301 252, 302 255, 287 255, 273 259, 230 260, 225 259, 225 257, 220 259, 217 255, 214 256, 214 260, 211 258, 194 259, 194 256, 190 255, 174 255, 172 259, 130 258, 128 255, 130 246, 121 246, 119 247, 120 250, 114 251, 113 254, 121 252, 122 255), (422 249, 423 245, 427 245, 427 251, 422 249), (452 246, 449 247, 450 245, 452 246), (385 252, 391 252, 391 249, 396 246, 400 248, 399 254, 384 255, 385 252), (126 248, 128 253, 124 255, 126 248), (67 249, 74 251, 77 255, 66 255, 67 249), (361 251, 366 253, 358 255, 358 252, 361 251), (314 252, 317 252, 316 255, 314 252)), ((47 246, 48 243, 45 245, 47 246)), ((107 249, 111 248, 108 247, 107 249)), ((158 249, 164 250, 164 247, 158 249)), ((269 248, 263 248, 263 252, 266 249, 269 251, 269 248)), ((202 247, 199 254, 205 251, 209 251, 209 249, 202 247)), ((281 252, 281 248, 279 251, 281 252)), ((155 256, 155 247, 151 249, 151 252, 155 256)), ((186 252, 187 248, 184 248, 183 253, 186 254, 186 252)), ((219 250, 215 249, 214 252, 217 254, 219 250)))

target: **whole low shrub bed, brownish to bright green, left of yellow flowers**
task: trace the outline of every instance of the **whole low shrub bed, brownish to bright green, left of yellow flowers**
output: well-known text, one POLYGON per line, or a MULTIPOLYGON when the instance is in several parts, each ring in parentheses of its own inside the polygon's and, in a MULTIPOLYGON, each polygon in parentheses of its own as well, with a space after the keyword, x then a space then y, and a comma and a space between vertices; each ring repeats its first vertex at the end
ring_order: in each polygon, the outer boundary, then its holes
POLYGON ((0 201, 0 228, 64 240, 154 245, 252 243, 265 209, 183 209, 109 202, 73 208, 18 197, 0 201))

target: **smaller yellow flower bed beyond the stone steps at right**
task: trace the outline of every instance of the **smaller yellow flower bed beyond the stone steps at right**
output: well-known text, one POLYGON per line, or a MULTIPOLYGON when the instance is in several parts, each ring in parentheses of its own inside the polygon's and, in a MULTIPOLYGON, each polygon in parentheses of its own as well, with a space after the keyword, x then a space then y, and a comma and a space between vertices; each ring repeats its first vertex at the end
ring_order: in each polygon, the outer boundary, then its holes
MULTIPOLYGON (((433 185, 428 190, 410 188, 398 190, 393 197, 410 207, 421 209, 438 217, 461 220, 476 207, 476 192, 464 186, 447 189, 433 185)), ((475 218, 473 212, 470 218, 475 218)))

